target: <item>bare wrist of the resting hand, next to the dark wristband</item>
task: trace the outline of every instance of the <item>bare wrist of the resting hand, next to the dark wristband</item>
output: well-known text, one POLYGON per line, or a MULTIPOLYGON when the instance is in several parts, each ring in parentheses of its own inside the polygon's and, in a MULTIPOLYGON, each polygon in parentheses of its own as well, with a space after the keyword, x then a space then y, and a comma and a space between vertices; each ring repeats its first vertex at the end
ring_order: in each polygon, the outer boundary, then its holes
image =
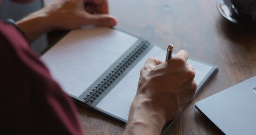
POLYGON ((43 10, 39 10, 16 22, 17 26, 25 33, 26 38, 31 43, 39 36, 54 29, 49 15, 43 10))

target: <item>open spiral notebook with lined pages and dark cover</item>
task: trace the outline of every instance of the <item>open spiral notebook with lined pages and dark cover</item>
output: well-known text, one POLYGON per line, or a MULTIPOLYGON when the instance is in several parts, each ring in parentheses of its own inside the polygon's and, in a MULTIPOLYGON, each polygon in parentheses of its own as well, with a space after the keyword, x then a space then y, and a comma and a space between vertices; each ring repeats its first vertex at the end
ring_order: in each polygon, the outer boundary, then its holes
MULTIPOLYGON (((117 29, 92 27, 69 32, 41 60, 76 103, 127 122, 140 69, 149 57, 164 61, 166 50, 117 29)), ((192 59, 188 62, 196 71, 198 93, 217 67, 192 59)))

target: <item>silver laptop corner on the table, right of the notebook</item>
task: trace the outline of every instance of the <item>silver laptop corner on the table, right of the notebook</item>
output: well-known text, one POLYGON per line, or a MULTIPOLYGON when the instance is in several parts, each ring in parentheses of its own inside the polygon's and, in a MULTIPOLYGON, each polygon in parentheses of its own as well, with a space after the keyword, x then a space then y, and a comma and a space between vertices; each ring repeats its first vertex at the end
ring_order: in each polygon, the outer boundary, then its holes
POLYGON ((256 77, 196 103, 226 135, 256 135, 256 77))

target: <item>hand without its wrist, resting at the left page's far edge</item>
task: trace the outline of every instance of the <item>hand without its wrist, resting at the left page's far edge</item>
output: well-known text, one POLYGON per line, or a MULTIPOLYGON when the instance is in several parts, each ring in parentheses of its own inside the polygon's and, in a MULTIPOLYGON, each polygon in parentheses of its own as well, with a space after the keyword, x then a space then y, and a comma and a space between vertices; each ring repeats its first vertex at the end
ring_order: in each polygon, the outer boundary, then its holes
POLYGON ((43 10, 57 29, 95 25, 112 27, 117 19, 108 14, 107 0, 53 0, 43 10))

